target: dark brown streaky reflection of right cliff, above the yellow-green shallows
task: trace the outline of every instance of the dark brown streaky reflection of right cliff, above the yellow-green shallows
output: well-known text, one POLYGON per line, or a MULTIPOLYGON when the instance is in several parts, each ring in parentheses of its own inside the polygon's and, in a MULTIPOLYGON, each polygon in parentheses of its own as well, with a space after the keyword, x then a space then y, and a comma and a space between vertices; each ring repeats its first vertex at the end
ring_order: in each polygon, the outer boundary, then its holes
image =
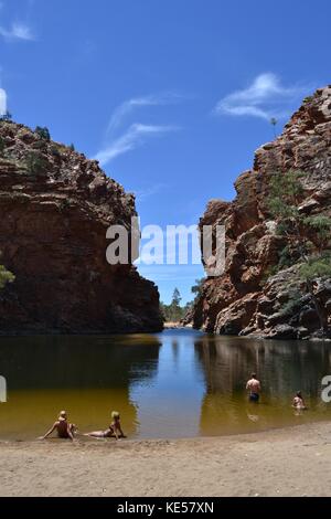
POLYGON ((301 389, 316 396, 321 378, 331 372, 329 342, 206 336, 194 345, 204 367, 209 393, 243 391, 250 373, 256 371, 266 394, 277 396, 301 389))

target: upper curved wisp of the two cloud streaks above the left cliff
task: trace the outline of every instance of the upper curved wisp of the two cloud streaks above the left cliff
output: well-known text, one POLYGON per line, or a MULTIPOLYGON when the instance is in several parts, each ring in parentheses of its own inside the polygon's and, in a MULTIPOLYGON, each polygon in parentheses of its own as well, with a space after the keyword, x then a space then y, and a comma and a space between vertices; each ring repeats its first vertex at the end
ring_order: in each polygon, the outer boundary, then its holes
POLYGON ((120 106, 118 106, 108 124, 107 134, 110 134, 115 129, 117 129, 124 119, 130 115, 136 108, 143 107, 143 106, 161 106, 161 105, 169 105, 178 102, 181 98, 179 94, 175 93, 164 93, 161 95, 150 95, 145 97, 132 97, 129 100, 126 100, 120 106))

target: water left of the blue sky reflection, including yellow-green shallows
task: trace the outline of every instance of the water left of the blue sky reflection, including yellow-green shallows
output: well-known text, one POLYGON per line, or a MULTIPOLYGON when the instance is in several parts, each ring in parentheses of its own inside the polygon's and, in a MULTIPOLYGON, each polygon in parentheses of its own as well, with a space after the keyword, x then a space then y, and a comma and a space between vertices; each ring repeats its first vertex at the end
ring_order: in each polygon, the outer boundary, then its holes
POLYGON ((120 410, 124 428, 135 436, 139 422, 129 386, 152 380, 160 346, 157 336, 1 338, 8 403, 0 407, 0 437, 35 437, 63 407, 82 431, 105 428, 110 411, 120 410))

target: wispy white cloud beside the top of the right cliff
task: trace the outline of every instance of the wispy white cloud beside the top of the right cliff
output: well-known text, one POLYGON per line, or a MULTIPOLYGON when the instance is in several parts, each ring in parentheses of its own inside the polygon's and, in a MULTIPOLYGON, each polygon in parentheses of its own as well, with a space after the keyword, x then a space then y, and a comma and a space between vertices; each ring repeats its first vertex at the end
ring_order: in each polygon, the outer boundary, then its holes
POLYGON ((307 87, 286 87, 276 74, 265 73, 258 75, 247 88, 233 92, 221 99, 214 113, 268 120, 271 117, 284 118, 291 112, 289 104, 306 91, 307 87))

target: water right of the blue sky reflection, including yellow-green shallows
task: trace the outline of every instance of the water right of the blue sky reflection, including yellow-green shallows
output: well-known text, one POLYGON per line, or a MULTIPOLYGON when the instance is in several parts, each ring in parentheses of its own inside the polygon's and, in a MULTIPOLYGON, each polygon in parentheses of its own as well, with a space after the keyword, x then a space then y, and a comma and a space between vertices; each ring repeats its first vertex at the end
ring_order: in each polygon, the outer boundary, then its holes
POLYGON ((203 337, 194 342, 205 373, 201 434, 254 432, 297 423, 291 399, 302 390, 309 413, 319 419, 330 407, 320 399, 321 379, 331 372, 327 342, 254 341, 203 337), (249 405, 246 381, 256 371, 263 384, 261 405, 249 405))

